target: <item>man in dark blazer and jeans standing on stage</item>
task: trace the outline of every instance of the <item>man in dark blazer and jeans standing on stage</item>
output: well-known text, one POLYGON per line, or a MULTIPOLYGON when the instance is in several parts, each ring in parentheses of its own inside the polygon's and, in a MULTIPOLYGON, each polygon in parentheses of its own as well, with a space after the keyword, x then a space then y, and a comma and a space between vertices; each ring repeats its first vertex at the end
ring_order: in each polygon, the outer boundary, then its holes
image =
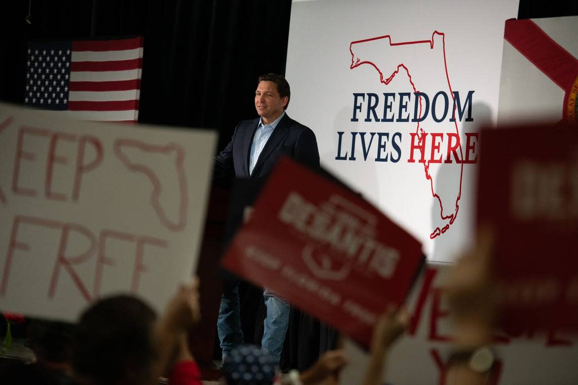
MULTIPOLYGON (((285 113, 290 97, 291 90, 283 76, 269 73, 258 78, 255 109, 260 117, 236 126, 231 142, 215 159, 216 178, 266 178, 284 154, 305 165, 319 166, 315 134, 285 113)), ((263 295, 267 314, 261 345, 279 362, 290 306, 266 289, 263 295)), ((224 360, 235 345, 244 343, 239 308, 236 282, 225 282, 217 321, 224 360)))

